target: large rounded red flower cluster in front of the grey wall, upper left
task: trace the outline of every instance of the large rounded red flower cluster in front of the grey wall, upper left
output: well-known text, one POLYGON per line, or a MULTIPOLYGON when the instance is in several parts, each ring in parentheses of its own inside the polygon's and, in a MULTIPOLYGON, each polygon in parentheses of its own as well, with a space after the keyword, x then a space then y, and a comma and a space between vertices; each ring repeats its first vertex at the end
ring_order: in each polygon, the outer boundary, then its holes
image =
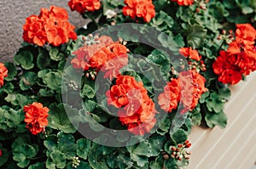
POLYGON ((75 27, 68 22, 68 14, 65 8, 51 6, 42 8, 41 13, 26 18, 23 25, 23 39, 38 46, 44 46, 46 42, 53 46, 59 46, 69 39, 77 38, 75 27))

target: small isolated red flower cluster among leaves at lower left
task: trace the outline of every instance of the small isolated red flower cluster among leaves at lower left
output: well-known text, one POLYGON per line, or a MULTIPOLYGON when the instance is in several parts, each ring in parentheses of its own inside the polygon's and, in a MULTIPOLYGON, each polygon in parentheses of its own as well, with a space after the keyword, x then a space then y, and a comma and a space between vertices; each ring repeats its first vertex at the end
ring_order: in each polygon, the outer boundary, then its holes
POLYGON ((48 112, 47 107, 43 107, 43 104, 34 102, 32 104, 24 106, 26 127, 36 135, 40 132, 44 132, 45 127, 48 125, 48 112))

